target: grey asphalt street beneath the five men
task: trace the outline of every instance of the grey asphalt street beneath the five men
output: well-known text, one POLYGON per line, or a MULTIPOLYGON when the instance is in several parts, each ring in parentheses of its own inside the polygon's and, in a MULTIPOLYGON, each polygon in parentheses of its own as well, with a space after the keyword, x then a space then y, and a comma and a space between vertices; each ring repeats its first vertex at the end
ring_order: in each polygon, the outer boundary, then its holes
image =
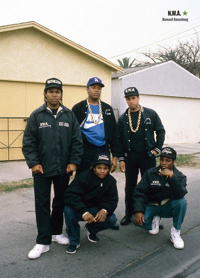
MULTIPOLYGON (((172 219, 163 219, 164 229, 156 235, 130 223, 119 230, 100 232, 97 243, 87 240, 80 222, 80 247, 75 254, 67 254, 66 246, 52 242, 48 252, 30 260, 27 253, 36 237, 33 189, 0 193, 1 277, 199 277, 199 169, 179 169, 187 175, 188 190, 187 213, 181 228, 185 244, 182 250, 175 249, 169 239, 172 219)), ((124 215, 124 175, 113 175, 119 193, 115 211, 119 221, 124 215)))

